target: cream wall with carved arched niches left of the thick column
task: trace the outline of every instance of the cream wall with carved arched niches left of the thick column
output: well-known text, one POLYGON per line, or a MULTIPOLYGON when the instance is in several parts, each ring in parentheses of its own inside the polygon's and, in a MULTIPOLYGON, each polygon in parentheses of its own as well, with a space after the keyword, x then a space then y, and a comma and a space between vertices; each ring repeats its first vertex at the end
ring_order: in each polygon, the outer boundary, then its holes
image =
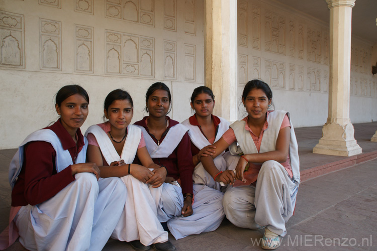
POLYGON ((116 88, 130 92, 133 122, 141 119, 157 81, 172 92, 173 119, 192 114, 189 98, 204 84, 202 1, 0 0, 0 7, 0 149, 55 121, 54 95, 66 84, 89 93, 82 131, 102 121, 116 88))

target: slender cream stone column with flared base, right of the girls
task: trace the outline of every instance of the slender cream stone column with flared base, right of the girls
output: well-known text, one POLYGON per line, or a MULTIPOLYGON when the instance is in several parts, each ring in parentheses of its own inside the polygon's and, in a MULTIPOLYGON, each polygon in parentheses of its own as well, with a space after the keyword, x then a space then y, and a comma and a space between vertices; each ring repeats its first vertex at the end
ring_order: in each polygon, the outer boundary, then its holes
POLYGON ((326 0, 330 9, 330 81, 327 122, 313 153, 352 156, 361 153, 349 119, 351 16, 355 0, 326 0))

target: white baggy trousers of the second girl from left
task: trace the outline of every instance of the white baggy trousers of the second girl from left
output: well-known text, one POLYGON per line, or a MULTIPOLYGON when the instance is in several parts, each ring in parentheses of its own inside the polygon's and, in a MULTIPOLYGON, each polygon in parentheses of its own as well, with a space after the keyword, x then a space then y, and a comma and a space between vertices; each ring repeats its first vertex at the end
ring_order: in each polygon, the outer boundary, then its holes
MULTIPOLYGON (((153 188, 132 175, 124 176, 121 180, 127 187, 128 196, 111 237, 122 241, 140 240, 146 246, 167 241, 168 233, 164 231, 159 221, 157 208, 161 215, 170 214, 170 212, 163 211, 165 206, 161 203, 161 194, 169 194, 166 192, 166 187, 172 185, 163 183, 160 187, 153 188)), ((169 190, 169 188, 167 189, 169 190)), ((170 187, 170 190, 173 194, 175 193, 173 187, 170 187)), ((165 219, 163 216, 161 218, 165 219)))

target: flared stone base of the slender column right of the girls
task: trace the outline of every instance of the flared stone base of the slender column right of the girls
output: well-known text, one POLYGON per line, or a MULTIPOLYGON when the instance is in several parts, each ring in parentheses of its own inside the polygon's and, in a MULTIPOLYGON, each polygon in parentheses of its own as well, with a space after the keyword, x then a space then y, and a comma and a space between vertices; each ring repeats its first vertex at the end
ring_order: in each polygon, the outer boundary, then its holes
POLYGON ((325 124, 322 128, 322 138, 313 148, 313 153, 335 156, 361 154, 362 149, 357 145, 353 134, 354 129, 351 123, 345 126, 334 122, 325 124))

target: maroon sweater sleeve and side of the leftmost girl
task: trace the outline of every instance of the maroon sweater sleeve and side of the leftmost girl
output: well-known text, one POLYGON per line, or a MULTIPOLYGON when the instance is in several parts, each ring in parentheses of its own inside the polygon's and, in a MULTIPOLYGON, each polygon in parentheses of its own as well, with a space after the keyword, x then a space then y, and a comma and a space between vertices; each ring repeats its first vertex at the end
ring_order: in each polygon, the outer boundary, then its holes
POLYGON ((24 153, 23 168, 12 191, 12 206, 42 203, 74 181, 70 165, 56 173, 56 153, 50 143, 30 142, 24 153))

